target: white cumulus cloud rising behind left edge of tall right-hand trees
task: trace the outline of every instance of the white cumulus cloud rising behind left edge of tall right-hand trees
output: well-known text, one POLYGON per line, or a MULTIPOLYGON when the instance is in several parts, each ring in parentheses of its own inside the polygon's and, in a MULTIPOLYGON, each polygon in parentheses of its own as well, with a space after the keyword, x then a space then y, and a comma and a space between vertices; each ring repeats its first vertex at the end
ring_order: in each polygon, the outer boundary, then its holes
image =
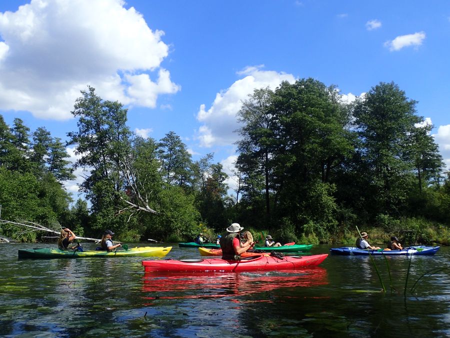
POLYGON ((234 82, 228 89, 216 94, 209 109, 203 104, 197 113, 197 120, 202 123, 197 131, 197 139, 202 147, 213 145, 231 145, 238 139, 234 131, 239 127, 236 113, 242 101, 254 89, 269 87, 274 90, 282 81, 295 82, 291 74, 264 71, 263 66, 247 67, 238 75, 244 76, 234 82))

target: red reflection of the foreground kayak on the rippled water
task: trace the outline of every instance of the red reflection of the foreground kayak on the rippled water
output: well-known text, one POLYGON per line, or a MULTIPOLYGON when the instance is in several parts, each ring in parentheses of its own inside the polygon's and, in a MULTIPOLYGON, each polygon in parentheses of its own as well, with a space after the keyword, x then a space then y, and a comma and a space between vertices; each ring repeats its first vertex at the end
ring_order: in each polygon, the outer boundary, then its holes
POLYGON ((279 288, 310 287, 327 283, 327 272, 322 267, 294 272, 147 272, 143 277, 142 291, 155 293, 144 297, 149 300, 242 297, 279 288))

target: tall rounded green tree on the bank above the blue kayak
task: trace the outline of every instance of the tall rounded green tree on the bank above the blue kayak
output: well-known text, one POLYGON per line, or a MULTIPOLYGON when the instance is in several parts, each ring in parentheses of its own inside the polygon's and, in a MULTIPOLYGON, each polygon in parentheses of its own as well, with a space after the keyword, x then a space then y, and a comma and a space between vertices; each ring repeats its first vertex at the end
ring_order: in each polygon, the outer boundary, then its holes
POLYGON ((416 102, 406 98, 394 83, 380 83, 353 109, 354 125, 360 139, 364 178, 365 209, 378 214, 400 216, 411 189, 412 162, 410 134, 420 122, 416 102))

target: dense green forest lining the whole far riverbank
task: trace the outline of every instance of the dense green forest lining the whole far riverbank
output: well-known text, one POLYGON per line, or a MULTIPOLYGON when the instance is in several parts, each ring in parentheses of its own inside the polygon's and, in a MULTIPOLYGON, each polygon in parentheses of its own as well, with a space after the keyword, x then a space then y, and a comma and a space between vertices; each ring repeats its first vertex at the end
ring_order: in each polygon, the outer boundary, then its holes
MULTIPOLYGON (((432 126, 394 83, 355 102, 314 79, 254 90, 237 118, 237 188, 213 154, 192 161, 180 137, 143 139, 127 109, 88 87, 75 101, 78 130, 67 142, 0 115, 1 219, 27 220, 78 236, 103 229, 121 241, 192 240, 232 222, 281 241, 351 242, 357 225, 422 243, 448 242, 450 175, 432 126), (69 163, 66 146, 76 146, 69 163), (73 200, 63 181, 84 168, 73 200)), ((35 241, 38 232, 3 224, 1 232, 35 241)))

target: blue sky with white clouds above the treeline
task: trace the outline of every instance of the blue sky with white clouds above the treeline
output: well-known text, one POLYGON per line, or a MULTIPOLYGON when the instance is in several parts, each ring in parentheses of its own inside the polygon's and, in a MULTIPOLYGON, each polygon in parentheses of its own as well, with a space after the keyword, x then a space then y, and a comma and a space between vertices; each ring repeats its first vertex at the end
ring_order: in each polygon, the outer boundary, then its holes
POLYGON ((0 114, 65 140, 90 85, 129 109, 133 131, 174 131, 194 160, 213 152, 229 173, 235 114, 254 88, 312 77, 352 100, 393 81, 448 166, 449 50, 446 0, 0 1, 0 114))

